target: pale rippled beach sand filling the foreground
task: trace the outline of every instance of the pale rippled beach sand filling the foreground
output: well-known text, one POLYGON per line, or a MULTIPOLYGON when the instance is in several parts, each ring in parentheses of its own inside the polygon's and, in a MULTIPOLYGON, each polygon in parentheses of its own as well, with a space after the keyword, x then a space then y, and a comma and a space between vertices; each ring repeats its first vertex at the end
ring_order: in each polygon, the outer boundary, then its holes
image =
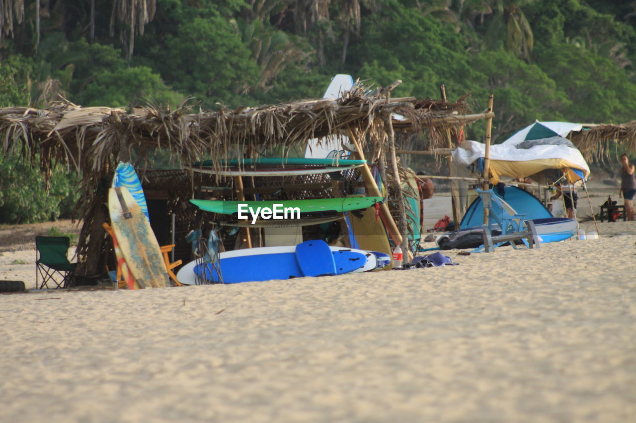
POLYGON ((0 421, 633 422, 636 224, 604 225, 628 235, 433 269, 0 295, 0 421))

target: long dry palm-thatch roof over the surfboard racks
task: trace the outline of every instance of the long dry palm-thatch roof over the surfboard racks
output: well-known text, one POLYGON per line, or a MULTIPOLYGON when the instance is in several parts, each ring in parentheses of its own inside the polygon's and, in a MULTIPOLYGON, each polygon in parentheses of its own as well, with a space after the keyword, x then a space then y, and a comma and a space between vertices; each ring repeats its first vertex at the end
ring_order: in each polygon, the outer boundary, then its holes
MULTIPOLYGON (((382 113, 396 112, 418 130, 434 124, 452 124, 448 117, 467 111, 464 102, 415 98, 387 102, 383 90, 366 93, 357 84, 338 100, 303 100, 230 111, 193 112, 182 105, 174 111, 142 107, 134 113, 109 107, 83 108, 58 102, 47 109, 0 109, 3 151, 21 149, 23 156, 41 152, 41 168, 48 173, 53 161, 68 164, 88 176, 101 173, 121 152, 140 154, 163 147, 184 163, 224 159, 238 147, 292 147, 347 126, 366 133, 382 131, 382 113), (441 121, 446 118, 446 121, 441 121)), ((475 119, 476 120, 476 119, 475 119)))

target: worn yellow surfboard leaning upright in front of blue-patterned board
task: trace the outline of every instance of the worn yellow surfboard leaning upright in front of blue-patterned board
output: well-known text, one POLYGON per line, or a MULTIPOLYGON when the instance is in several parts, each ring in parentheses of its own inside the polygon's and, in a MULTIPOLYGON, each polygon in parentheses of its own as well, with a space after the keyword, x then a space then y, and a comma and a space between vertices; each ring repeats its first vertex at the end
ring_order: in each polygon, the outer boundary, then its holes
POLYGON ((108 210, 121 255, 135 281, 141 288, 167 286, 169 276, 155 233, 128 189, 109 189, 108 210))

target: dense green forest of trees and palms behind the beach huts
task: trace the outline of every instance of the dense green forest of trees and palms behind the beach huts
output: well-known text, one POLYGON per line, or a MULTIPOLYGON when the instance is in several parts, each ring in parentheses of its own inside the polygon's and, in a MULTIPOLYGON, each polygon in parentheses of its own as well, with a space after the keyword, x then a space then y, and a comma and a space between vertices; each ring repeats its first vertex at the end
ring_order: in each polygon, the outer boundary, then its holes
MULTIPOLYGON (((1 107, 39 107, 62 94, 82 105, 124 107, 195 97, 217 109, 319 97, 331 76, 348 73, 382 85, 402 79, 395 95, 438 98, 445 84, 450 99, 472 93, 476 111, 494 93, 495 142, 534 119, 621 123, 636 111, 634 2, 4 4, 13 15, 0 24, 1 107)), ((482 130, 476 124, 468 135, 481 138, 482 130)), ((15 166, 0 161, 4 209, 5 178, 15 166)), ((8 215, 0 218, 39 218, 8 215)))

